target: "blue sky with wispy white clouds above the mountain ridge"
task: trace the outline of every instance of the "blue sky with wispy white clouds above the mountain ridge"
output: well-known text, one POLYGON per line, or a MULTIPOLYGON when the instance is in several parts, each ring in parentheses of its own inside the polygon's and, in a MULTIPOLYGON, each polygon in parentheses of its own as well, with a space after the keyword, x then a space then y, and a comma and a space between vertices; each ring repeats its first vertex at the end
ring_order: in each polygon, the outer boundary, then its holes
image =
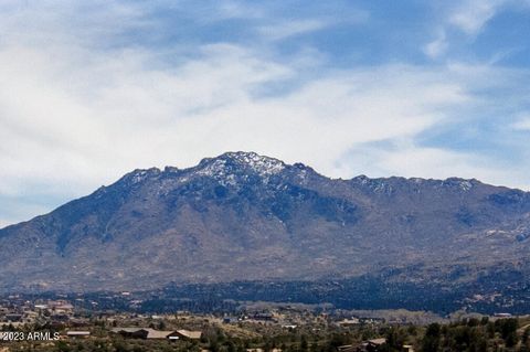
POLYGON ((0 226, 227 150, 530 189, 530 1, 2 1, 0 226))

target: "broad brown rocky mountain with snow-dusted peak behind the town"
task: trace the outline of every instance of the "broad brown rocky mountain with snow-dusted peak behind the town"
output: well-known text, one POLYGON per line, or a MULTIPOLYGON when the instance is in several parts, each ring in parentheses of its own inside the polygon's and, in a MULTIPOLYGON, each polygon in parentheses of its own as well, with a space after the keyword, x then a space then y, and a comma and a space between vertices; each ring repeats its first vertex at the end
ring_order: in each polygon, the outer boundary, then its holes
POLYGON ((367 276, 509 285, 528 281, 529 237, 530 194, 520 190, 456 178, 329 179, 227 152, 190 169, 135 170, 0 230, 0 291, 367 276))

